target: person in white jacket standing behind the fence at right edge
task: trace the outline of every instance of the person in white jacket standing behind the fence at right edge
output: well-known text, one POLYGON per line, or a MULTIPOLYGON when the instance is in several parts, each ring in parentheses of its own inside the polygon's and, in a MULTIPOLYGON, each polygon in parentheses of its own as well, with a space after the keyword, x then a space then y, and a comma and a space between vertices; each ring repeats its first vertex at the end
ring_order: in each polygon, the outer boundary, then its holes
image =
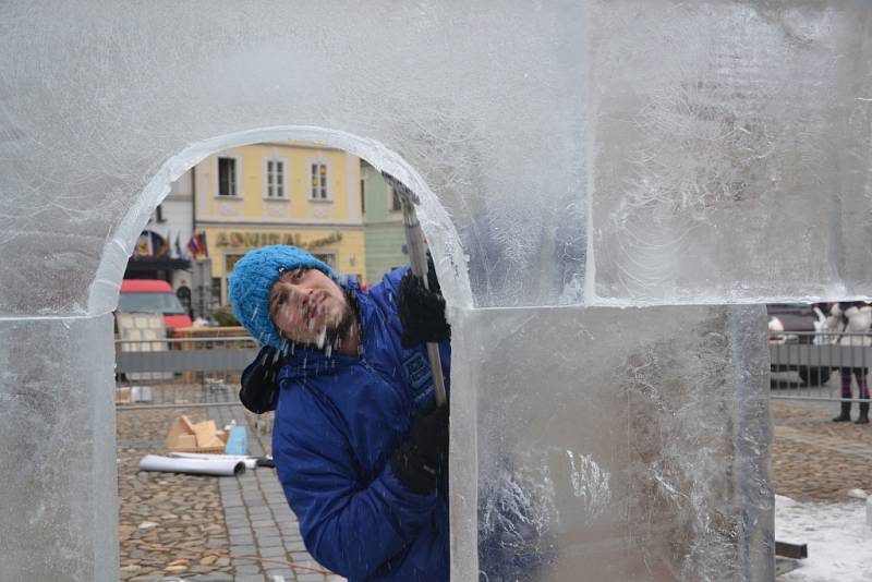
MULTIPOLYGON (((834 343, 839 345, 872 345, 870 338, 870 326, 872 326, 872 306, 863 301, 843 301, 834 303, 826 318, 826 327, 831 334, 835 334, 834 343)), ((865 402, 860 402, 860 415, 855 421, 857 424, 869 424, 869 386, 867 385, 865 362, 862 365, 851 362, 850 366, 839 368, 841 375, 841 398, 853 398, 851 393, 851 374, 857 378, 858 396, 865 402)), ((833 422, 841 423, 851 420, 850 401, 841 402, 841 413, 833 419, 833 422)))

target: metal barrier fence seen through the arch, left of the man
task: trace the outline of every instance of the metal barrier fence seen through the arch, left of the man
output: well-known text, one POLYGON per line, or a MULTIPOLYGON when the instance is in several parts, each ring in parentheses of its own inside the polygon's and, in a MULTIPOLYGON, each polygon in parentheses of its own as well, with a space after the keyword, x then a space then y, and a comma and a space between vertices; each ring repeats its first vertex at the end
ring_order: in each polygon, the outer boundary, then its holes
POLYGON ((251 337, 117 340, 116 409, 238 404, 257 349, 251 337))

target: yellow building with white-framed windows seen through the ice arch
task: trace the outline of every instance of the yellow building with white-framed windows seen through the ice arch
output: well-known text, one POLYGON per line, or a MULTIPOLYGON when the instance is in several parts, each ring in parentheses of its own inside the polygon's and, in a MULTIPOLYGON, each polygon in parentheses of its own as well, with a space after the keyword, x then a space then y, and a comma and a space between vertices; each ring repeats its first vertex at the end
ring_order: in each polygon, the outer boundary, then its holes
POLYGON ((366 272, 360 159, 307 143, 235 147, 195 168, 194 222, 206 233, 213 298, 251 248, 294 244, 342 275, 366 272))

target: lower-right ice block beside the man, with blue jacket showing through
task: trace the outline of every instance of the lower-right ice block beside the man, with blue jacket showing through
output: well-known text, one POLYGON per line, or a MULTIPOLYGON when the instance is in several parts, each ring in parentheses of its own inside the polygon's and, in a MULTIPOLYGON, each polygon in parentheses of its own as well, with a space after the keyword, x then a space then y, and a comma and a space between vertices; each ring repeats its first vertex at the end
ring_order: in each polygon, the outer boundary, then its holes
POLYGON ((458 314, 452 579, 772 580, 764 324, 762 307, 458 314))

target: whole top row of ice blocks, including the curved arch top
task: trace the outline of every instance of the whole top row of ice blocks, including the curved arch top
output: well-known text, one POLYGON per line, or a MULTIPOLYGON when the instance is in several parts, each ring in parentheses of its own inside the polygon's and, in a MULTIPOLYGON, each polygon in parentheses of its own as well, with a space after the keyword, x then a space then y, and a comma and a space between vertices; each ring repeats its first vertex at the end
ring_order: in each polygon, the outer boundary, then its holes
POLYGON ((862 0, 7 2, 0 313, 111 310, 185 166, 313 129, 422 192, 464 306, 865 293, 870 19, 862 0))

